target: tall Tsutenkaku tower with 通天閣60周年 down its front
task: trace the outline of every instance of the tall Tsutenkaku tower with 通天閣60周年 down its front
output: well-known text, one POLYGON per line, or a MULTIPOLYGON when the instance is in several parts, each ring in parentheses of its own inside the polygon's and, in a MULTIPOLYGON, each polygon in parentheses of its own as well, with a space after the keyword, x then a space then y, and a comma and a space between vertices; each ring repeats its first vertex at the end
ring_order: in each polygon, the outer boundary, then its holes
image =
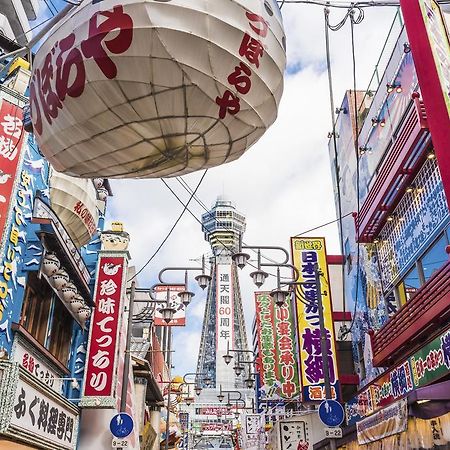
POLYGON ((214 207, 203 214, 202 225, 213 256, 197 372, 207 373, 216 389, 219 385, 224 389, 242 388, 244 377, 236 377, 233 370, 238 354, 233 354, 229 365, 223 355, 227 345, 230 349, 248 350, 237 266, 231 258, 245 231, 245 217, 231 201, 219 197, 214 207))

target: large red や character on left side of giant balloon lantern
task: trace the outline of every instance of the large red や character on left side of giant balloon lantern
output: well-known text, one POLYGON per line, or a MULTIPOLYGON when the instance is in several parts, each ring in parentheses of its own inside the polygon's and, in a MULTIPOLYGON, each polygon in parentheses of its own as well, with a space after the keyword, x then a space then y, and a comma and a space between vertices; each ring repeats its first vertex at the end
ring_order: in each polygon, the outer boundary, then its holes
POLYGON ((89 37, 81 43, 86 58, 94 58, 97 66, 110 80, 117 75, 117 67, 103 48, 116 55, 125 52, 133 40, 133 20, 123 12, 123 6, 115 6, 112 11, 98 11, 89 20, 89 37), (100 17, 106 17, 101 22, 100 17), (116 36, 106 40, 109 33, 118 31, 116 36))

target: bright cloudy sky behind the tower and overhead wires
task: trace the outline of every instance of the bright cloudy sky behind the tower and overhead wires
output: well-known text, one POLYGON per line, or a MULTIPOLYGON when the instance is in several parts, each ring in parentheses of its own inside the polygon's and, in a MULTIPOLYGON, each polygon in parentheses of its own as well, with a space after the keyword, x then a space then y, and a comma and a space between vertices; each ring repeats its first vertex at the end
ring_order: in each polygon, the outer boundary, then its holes
MULTIPOLYGON (((248 245, 289 248, 290 236, 333 220, 336 210, 327 147, 331 123, 323 7, 285 4, 282 12, 288 69, 278 119, 240 159, 210 169, 197 195, 208 208, 218 196, 232 200, 247 218, 244 241, 248 245)), ((339 22, 345 13, 345 9, 332 9, 331 22, 339 22)), ((395 13, 393 7, 368 8, 363 22, 355 26, 358 89, 368 86, 395 13)), ((41 11, 41 18, 47 15, 48 11, 41 11)), ((353 86, 350 24, 330 33, 335 103, 339 106, 345 90, 353 86)), ((194 188, 202 173, 184 180, 194 188)), ((189 195, 182 186, 175 179, 167 181, 186 202, 189 195)), ((158 179, 113 180, 111 184, 114 196, 109 199, 108 220, 124 222, 131 235, 131 263, 139 269, 165 238, 183 206, 158 179)), ((190 209, 198 219, 205 212, 195 201, 190 209)), ((311 235, 325 236, 328 253, 339 253, 335 225, 311 235)), ((191 259, 208 251, 199 223, 186 212, 139 276, 139 284, 147 287, 155 283, 163 267, 192 266, 191 259)), ((251 341, 254 290, 249 273, 244 269, 240 280, 251 341)), ((182 279, 180 273, 173 281, 182 279)), ((274 288, 273 278, 264 287, 274 288)), ((188 325, 174 329, 174 374, 195 371, 205 306, 205 292, 196 292, 188 308, 188 325)))

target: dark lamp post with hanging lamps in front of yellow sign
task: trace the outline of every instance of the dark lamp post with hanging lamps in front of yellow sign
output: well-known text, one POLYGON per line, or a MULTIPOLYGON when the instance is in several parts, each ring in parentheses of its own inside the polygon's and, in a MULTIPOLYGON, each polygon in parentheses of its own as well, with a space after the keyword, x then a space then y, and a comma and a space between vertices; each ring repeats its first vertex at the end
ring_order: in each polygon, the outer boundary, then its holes
MULTIPOLYGON (((242 249, 256 249, 258 251, 258 268, 255 272, 252 272, 250 276, 253 278, 253 282, 255 285, 260 288, 265 279, 267 278, 268 274, 264 272, 261 268, 262 267, 276 267, 277 268, 277 289, 274 289, 270 292, 270 296, 273 298, 274 302, 278 306, 282 306, 285 304, 287 299, 291 295, 291 289, 294 287, 299 286, 300 288, 305 285, 309 284, 311 285, 314 283, 316 285, 317 290, 317 303, 313 304, 311 301, 308 301, 309 305, 317 306, 318 309, 318 315, 319 315, 319 329, 320 329, 320 352, 322 357, 322 368, 323 368, 323 381, 325 386, 325 399, 330 400, 332 399, 332 391, 331 391, 331 381, 330 381, 330 370, 329 370, 329 364, 328 364, 328 349, 327 349, 327 330, 325 328, 325 318, 324 318, 324 312, 323 312, 323 303, 322 303, 322 288, 321 288, 321 282, 320 282, 320 268, 317 263, 314 265, 314 282, 299 282, 297 281, 299 279, 299 272, 295 266, 288 263, 289 260, 289 253, 282 247, 271 247, 271 246, 242 246, 242 243, 240 242, 239 245, 239 252, 235 253, 232 258, 234 261, 236 261, 236 264, 242 269, 245 267, 249 255, 242 252, 242 249), (285 258, 280 263, 277 262, 271 262, 271 263, 262 263, 261 262, 261 250, 278 250, 284 253, 285 258), (281 282, 280 277, 280 268, 281 267, 288 267, 291 268, 294 272, 294 279, 289 281, 281 282), (288 289, 284 290, 282 289, 282 286, 287 286, 288 289)), ((303 301, 300 299, 300 301, 303 301)), ((304 302, 305 303, 305 302, 304 302)), ((227 355, 224 356, 226 364, 229 364, 231 362, 232 356, 229 355, 229 352, 227 352, 227 355), (225 358, 226 357, 226 358, 225 358), (227 362, 228 361, 228 362, 227 362)), ((334 438, 329 439, 331 450, 336 450, 336 441, 334 438)))

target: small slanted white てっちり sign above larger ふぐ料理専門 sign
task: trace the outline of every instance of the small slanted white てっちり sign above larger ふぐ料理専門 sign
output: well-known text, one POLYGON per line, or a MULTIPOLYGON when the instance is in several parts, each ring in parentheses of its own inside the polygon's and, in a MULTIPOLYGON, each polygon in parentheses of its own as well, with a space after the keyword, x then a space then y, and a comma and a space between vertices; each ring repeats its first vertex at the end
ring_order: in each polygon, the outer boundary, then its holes
POLYGON ((64 374, 44 361, 42 355, 35 351, 27 341, 24 341, 19 334, 16 334, 14 339, 12 359, 57 394, 62 393, 63 380, 61 378, 64 374))

